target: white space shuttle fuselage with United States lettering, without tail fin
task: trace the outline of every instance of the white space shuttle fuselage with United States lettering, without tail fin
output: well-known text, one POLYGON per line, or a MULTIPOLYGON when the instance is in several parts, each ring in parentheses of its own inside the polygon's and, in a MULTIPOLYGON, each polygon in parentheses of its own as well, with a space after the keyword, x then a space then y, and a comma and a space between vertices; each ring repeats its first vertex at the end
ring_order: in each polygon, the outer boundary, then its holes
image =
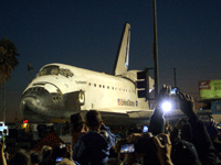
POLYGON ((108 113, 127 113, 131 111, 149 110, 148 101, 146 101, 145 98, 137 97, 137 72, 130 70, 128 73, 129 76, 126 75, 127 77, 118 77, 64 64, 45 65, 24 90, 22 96, 24 100, 22 102, 22 109, 25 109, 30 100, 28 98, 32 97, 34 101, 31 101, 33 103, 29 106, 29 111, 31 109, 35 112, 38 111, 38 113, 44 112, 42 116, 49 116, 49 118, 50 116, 53 118, 69 118, 71 113, 91 109, 108 113), (54 70, 50 70, 50 74, 45 74, 46 72, 44 72, 44 68, 51 66, 56 66, 62 70, 69 70, 69 73, 72 73, 72 76, 65 77, 65 74, 53 74, 54 70), (41 88, 41 90, 39 88, 41 88), (44 91, 48 96, 42 95, 39 90, 44 91), (81 97, 70 97, 75 92, 83 92, 83 99, 81 100, 81 97), (53 95, 56 97, 50 97, 53 95), (44 96, 43 99, 40 98, 42 96, 44 96), (50 98, 52 99, 50 100, 50 98), (45 101, 45 99, 48 101, 45 101), (80 100, 83 102, 81 102, 78 109, 75 105, 80 100))

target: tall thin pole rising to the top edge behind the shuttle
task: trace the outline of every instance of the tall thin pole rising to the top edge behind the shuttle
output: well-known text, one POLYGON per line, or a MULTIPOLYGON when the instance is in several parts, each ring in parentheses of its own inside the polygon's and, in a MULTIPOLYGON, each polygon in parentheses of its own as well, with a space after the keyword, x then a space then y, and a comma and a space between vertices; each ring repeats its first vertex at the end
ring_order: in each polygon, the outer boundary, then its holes
POLYGON ((152 24, 154 24, 154 44, 152 54, 155 61, 155 99, 159 94, 159 72, 158 72, 158 47, 157 47, 157 10, 156 0, 152 0, 152 24))

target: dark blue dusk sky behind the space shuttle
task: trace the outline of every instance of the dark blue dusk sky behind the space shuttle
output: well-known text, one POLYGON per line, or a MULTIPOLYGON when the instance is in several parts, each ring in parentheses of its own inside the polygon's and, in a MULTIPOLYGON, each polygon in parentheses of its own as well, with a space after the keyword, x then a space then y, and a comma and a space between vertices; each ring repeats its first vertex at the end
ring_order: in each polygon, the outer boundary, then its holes
MULTIPOLYGON (((177 85, 199 100, 199 80, 221 79, 220 9, 220 0, 157 0, 160 86, 175 85, 176 68, 177 85)), ((22 119, 28 63, 30 79, 49 63, 112 73, 125 22, 131 25, 129 69, 154 67, 151 0, 2 0, 0 37, 20 54, 7 82, 7 121, 15 113, 22 119)))

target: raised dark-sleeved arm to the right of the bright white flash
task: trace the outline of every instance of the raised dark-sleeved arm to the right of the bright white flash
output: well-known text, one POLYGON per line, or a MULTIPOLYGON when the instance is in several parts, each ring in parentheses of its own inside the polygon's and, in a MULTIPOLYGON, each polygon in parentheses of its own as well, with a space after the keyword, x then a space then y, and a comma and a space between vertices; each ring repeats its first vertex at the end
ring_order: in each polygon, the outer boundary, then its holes
POLYGON ((179 91, 177 98, 181 111, 188 117, 191 127, 192 143, 197 150, 199 161, 203 164, 217 164, 217 151, 212 144, 204 123, 198 119, 194 112, 194 101, 189 95, 179 91))

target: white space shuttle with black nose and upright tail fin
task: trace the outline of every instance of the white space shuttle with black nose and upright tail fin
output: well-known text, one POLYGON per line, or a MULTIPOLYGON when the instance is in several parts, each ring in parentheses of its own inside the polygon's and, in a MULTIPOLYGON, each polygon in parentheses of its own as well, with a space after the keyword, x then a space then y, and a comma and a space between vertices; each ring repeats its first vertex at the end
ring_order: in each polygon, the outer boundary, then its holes
MULTIPOLYGON (((71 114, 98 110, 103 118, 149 117, 152 110, 138 97, 137 73, 128 70, 130 24, 125 23, 113 74, 65 64, 48 64, 28 85, 20 110, 30 122, 69 120, 71 114)), ((149 90, 154 80, 148 77, 149 90)))

